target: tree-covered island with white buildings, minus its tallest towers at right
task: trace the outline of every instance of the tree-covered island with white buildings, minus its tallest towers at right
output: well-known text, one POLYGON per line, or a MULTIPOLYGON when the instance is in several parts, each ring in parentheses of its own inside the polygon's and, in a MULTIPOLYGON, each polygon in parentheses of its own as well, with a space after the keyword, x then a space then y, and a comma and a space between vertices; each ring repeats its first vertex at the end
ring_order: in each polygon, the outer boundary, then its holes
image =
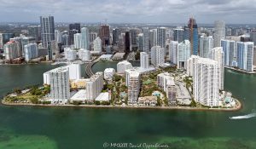
MULTIPOLYGON (((200 61, 202 58, 194 57, 194 59, 200 61)), ((81 70, 80 64, 61 66, 44 73, 44 85, 14 89, 13 93, 3 98, 2 103, 9 106, 196 111, 237 111, 241 109, 239 100, 235 99, 230 92, 218 88, 218 93, 215 91, 218 97, 212 100, 214 103, 210 103, 211 100, 195 99, 198 98, 195 95, 195 75, 193 77, 189 75, 189 71, 178 69, 175 65, 161 65, 154 69, 144 66, 145 69, 142 66, 133 67, 129 61, 123 60, 118 63, 117 72, 113 68, 107 68, 104 72, 96 72, 96 74, 87 70, 91 69, 97 61, 100 60, 93 60, 86 66, 86 72, 90 72, 90 78, 80 78, 77 75, 81 70)))

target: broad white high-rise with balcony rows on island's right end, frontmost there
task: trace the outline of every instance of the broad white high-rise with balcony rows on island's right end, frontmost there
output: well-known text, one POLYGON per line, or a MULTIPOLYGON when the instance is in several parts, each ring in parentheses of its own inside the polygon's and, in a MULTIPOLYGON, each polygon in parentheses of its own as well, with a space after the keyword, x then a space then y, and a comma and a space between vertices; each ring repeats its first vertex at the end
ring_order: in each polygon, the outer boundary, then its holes
POLYGON ((187 70, 193 77, 195 101, 203 106, 218 106, 219 65, 215 60, 192 55, 187 70))

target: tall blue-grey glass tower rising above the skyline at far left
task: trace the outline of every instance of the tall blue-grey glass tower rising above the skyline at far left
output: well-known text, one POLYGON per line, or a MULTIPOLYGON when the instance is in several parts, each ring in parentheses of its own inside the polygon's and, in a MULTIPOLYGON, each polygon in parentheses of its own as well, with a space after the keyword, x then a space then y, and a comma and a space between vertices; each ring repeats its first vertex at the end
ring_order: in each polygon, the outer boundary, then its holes
POLYGON ((40 16, 42 45, 48 48, 49 42, 55 40, 55 20, 53 16, 40 16))

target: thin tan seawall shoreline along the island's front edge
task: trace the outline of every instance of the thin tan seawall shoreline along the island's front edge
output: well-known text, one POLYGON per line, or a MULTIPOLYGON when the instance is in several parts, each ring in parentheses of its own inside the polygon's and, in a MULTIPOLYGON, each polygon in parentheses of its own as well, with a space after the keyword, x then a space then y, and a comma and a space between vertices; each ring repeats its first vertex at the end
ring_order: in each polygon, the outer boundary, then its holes
POLYGON ((81 107, 81 108, 108 108, 108 109, 158 109, 158 110, 185 110, 185 111, 212 111, 212 112, 236 112, 241 110, 242 105, 239 100, 236 100, 238 106, 236 108, 195 108, 189 106, 96 106, 96 105, 45 105, 31 103, 8 103, 1 100, 4 106, 35 106, 35 107, 81 107))

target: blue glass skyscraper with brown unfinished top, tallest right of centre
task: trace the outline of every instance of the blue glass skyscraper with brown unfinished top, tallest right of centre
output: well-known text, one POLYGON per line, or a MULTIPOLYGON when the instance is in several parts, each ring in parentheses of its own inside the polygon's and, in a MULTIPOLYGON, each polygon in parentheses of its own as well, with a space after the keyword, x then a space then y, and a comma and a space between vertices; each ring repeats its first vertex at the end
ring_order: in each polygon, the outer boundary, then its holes
POLYGON ((188 28, 184 31, 184 40, 189 37, 191 54, 198 55, 198 28, 194 18, 189 19, 188 28))

